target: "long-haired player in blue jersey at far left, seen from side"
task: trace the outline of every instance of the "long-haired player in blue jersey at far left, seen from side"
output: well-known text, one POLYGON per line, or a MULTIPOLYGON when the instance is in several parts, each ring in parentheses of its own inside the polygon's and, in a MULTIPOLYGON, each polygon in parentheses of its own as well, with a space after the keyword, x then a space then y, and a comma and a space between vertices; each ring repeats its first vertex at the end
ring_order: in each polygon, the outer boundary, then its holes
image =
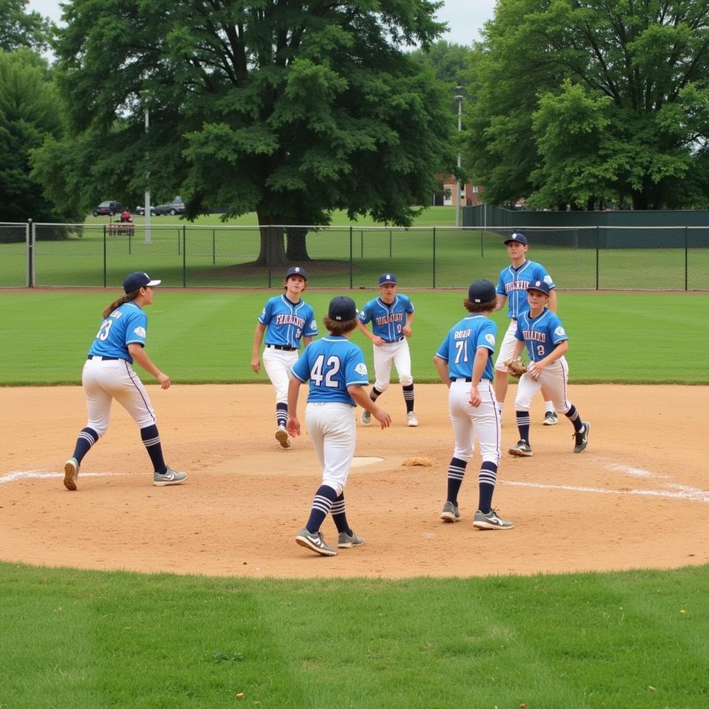
POLYGON ((124 295, 104 310, 104 321, 84 363, 82 384, 89 421, 79 432, 74 454, 64 466, 64 486, 67 490, 77 489, 79 466, 84 456, 108 430, 113 399, 133 416, 140 427, 140 438, 154 471, 152 484, 177 485, 187 479, 186 473, 173 470, 164 462, 155 411, 143 383, 131 366, 134 361, 138 362, 146 372, 155 376, 162 389, 169 389, 169 376, 157 369, 145 352, 147 317, 143 308, 152 305, 154 289, 159 284, 160 281, 141 271, 130 273, 123 281, 124 295))

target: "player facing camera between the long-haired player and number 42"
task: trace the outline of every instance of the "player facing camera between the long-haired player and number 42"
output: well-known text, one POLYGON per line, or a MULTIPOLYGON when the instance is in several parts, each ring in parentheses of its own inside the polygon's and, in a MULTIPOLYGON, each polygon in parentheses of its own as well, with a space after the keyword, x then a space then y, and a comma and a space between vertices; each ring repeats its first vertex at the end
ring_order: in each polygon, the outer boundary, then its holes
POLYGON ((318 323, 313 308, 301 299, 308 285, 306 269, 291 266, 283 281, 285 293, 270 298, 261 311, 254 333, 251 352, 251 369, 256 374, 261 369, 259 350, 266 333, 266 347, 263 352, 264 368, 271 384, 276 389, 276 440, 284 448, 291 442, 286 431, 288 421, 288 381, 291 367, 298 359, 298 349, 318 335, 318 323))

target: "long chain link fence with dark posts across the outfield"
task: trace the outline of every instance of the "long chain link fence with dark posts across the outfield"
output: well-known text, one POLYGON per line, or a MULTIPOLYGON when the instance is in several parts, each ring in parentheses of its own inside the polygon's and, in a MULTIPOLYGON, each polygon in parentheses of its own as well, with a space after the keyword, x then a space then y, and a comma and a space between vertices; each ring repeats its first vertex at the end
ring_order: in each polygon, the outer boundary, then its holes
MULTIPOLYGON (((520 227, 529 258, 564 290, 709 290, 709 227, 520 227)), ((311 287, 406 288, 497 281, 509 227, 303 227, 169 223, 0 224, 0 287, 121 286, 147 271, 174 287, 280 287, 286 267, 311 287)))

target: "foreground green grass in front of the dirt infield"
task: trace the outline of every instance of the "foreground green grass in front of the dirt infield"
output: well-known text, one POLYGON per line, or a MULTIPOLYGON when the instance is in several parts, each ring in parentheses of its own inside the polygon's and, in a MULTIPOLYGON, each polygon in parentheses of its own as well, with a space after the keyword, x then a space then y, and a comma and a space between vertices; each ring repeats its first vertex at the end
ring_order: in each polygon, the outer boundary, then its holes
POLYGON ((0 564, 0 705, 698 709, 708 571, 274 581, 0 564))

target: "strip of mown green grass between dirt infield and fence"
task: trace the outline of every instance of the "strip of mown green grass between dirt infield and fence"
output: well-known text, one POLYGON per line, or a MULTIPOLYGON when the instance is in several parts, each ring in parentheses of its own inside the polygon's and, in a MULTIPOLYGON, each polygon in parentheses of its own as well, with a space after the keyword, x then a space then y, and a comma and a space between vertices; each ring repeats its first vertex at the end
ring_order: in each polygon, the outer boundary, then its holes
MULTIPOLYGON (((162 275, 157 272, 155 275, 162 275)), ((101 324, 101 311, 121 291, 1 292, 0 385, 79 384, 82 360, 101 324)), ((183 384, 264 382, 251 371, 256 320, 279 291, 156 291, 147 308, 148 351, 161 369, 183 384)), ((378 291, 354 291, 357 304, 378 291)), ((402 292, 406 292, 402 289, 402 292)), ((306 291, 321 320, 337 291, 306 291)), ((464 291, 409 291, 416 308, 410 340, 416 381, 438 381, 433 355, 447 330, 464 316, 464 291)), ((569 333, 572 383, 707 384, 696 366, 709 350, 707 294, 563 293, 559 313, 569 333)), ((495 313, 498 342, 507 327, 495 313)), ((369 372, 372 346, 359 332, 369 372)))

